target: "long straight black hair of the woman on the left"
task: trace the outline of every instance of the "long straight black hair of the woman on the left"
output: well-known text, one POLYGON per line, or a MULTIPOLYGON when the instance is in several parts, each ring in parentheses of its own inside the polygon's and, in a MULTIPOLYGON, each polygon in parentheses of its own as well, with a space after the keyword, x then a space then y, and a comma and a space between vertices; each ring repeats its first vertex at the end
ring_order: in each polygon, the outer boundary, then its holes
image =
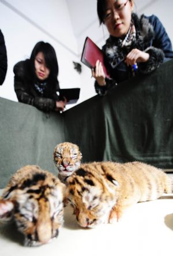
POLYGON ((48 82, 50 84, 49 88, 59 89, 58 82, 58 61, 57 55, 55 53, 54 47, 51 46, 50 43, 45 43, 40 41, 36 43, 35 47, 32 50, 31 57, 28 60, 29 70, 32 77, 35 77, 35 57, 36 55, 42 52, 44 55, 44 60, 46 62, 46 66, 50 69, 50 75, 48 76, 48 82))

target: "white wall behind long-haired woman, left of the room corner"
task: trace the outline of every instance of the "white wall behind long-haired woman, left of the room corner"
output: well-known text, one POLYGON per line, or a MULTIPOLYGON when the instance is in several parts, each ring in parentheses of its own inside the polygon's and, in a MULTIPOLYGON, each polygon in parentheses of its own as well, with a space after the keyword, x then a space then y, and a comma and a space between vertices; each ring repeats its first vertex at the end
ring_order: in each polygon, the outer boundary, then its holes
POLYGON ((78 61, 77 40, 65 0, 1 0, 0 12, 8 60, 6 79, 0 87, 1 97, 17 101, 13 66, 28 58, 40 40, 52 44, 57 53, 61 88, 80 87, 80 75, 72 62, 78 61))

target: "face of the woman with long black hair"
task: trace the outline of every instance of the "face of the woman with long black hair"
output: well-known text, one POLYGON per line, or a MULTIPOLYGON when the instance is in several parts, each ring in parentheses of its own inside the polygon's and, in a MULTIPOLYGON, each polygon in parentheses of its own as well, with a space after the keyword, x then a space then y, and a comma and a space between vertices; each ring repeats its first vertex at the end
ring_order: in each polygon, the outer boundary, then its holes
POLYGON ((50 69, 47 68, 44 54, 41 51, 35 57, 35 73, 40 80, 45 80, 50 75, 50 69))

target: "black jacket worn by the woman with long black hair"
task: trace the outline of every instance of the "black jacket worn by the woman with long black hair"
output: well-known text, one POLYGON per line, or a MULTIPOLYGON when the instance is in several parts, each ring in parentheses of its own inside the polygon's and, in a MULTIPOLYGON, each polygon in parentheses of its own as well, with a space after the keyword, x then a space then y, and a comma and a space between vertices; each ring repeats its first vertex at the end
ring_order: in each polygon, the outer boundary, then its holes
POLYGON ((14 65, 14 90, 19 102, 37 107, 37 109, 49 112, 55 110, 56 101, 59 101, 57 91, 59 84, 53 88, 47 81, 43 94, 35 88, 35 77, 29 76, 29 60, 20 61, 14 65))

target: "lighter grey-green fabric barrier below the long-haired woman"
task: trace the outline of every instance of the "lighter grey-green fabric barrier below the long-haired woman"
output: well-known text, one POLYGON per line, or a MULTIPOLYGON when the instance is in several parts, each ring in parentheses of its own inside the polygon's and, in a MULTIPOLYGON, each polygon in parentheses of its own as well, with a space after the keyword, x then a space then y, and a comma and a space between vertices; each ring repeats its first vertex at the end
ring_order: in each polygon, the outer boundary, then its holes
POLYGON ((61 114, 50 116, 19 102, 0 98, 0 188, 24 165, 56 172, 54 147, 65 141, 61 114))

